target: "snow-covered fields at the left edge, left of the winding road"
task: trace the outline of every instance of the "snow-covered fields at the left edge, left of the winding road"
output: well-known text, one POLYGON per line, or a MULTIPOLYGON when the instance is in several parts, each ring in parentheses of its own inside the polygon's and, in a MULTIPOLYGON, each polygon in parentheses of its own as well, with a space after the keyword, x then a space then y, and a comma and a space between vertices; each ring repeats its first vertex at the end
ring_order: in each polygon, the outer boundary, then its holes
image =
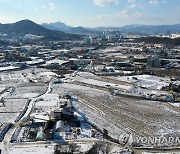
MULTIPOLYGON (((0 123, 12 123, 24 110, 28 99, 46 92, 47 84, 30 83, 28 76, 42 75, 45 69, 26 69, 0 74, 0 123)), ((44 73, 50 76, 52 73, 44 73)), ((53 74, 54 75, 54 74, 53 74)))

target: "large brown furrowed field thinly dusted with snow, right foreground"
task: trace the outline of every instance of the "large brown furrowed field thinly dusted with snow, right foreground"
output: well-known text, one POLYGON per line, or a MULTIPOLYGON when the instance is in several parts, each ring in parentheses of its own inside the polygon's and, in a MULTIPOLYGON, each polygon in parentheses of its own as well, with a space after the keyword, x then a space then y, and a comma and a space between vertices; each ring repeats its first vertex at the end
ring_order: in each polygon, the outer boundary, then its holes
POLYGON ((118 138, 122 132, 135 135, 150 135, 158 132, 173 131, 177 134, 179 109, 158 101, 116 97, 109 92, 71 83, 54 85, 52 93, 68 91, 79 100, 75 105, 85 113, 92 123, 118 138), (168 128, 168 129, 167 129, 168 128))

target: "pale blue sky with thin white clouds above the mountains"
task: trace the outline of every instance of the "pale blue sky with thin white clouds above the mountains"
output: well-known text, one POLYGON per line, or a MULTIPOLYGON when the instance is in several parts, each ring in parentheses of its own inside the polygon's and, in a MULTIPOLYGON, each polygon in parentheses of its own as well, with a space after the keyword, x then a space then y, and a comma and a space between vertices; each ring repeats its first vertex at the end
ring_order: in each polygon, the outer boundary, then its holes
POLYGON ((71 26, 180 23, 180 0, 0 0, 0 23, 30 19, 71 26))

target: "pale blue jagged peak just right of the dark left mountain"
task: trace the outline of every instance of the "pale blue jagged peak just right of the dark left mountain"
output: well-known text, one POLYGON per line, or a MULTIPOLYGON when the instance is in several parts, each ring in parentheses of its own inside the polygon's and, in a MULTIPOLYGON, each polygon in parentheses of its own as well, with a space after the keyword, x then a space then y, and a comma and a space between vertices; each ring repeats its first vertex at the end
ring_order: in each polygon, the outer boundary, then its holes
POLYGON ((73 27, 67 26, 65 23, 62 22, 55 22, 55 23, 43 23, 41 24, 42 27, 51 29, 51 30, 58 30, 58 31, 67 31, 73 27))

